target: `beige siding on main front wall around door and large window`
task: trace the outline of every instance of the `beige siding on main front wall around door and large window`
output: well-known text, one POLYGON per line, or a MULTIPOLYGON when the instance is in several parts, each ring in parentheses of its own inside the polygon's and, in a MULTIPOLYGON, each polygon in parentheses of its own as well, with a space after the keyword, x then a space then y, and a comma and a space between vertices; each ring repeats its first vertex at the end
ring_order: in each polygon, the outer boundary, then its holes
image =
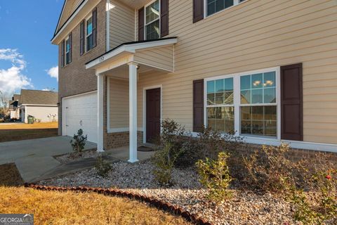
POLYGON ((337 1, 249 0, 194 24, 192 1, 169 7, 175 72, 140 74, 138 127, 145 86, 162 84, 163 118, 191 130, 194 79, 303 63, 304 141, 337 143, 337 1))

